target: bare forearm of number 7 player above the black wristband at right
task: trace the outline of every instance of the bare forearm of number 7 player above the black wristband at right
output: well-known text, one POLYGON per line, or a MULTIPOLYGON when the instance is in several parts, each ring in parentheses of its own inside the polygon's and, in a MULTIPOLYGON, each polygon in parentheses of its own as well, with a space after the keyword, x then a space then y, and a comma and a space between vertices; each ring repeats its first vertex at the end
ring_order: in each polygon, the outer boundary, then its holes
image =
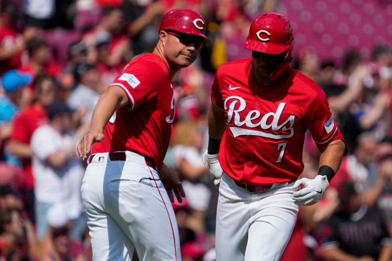
POLYGON ((336 173, 342 164, 345 144, 342 140, 331 142, 321 152, 319 166, 330 166, 336 173))

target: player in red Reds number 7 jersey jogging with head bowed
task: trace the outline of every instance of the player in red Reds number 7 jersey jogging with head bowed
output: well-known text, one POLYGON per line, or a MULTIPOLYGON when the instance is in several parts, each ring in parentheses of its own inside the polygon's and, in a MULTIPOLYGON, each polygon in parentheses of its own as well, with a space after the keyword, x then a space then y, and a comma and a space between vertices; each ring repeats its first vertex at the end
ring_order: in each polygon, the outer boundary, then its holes
POLYGON ((252 59, 220 67, 212 86, 205 160, 219 185, 217 261, 277 261, 293 232, 297 205, 319 201, 338 170, 345 142, 321 88, 289 68, 289 20, 265 13, 243 47, 252 59), (296 181, 310 130, 319 175, 296 181))

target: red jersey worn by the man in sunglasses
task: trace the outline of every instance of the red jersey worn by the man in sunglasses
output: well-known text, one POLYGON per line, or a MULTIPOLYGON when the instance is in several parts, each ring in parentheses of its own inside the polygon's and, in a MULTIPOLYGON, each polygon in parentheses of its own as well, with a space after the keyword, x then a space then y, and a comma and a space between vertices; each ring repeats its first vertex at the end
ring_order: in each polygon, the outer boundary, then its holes
POLYGON ((105 139, 93 153, 134 151, 154 161, 158 169, 169 146, 174 119, 174 96, 169 69, 156 54, 129 62, 110 86, 128 96, 128 107, 118 109, 103 131, 105 139))

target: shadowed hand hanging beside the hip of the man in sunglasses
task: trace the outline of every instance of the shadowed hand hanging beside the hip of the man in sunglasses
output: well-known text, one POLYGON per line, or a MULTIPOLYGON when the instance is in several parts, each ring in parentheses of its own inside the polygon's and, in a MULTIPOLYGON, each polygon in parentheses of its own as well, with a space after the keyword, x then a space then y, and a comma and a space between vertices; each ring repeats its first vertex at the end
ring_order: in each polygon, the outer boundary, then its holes
POLYGON ((165 164, 162 165, 161 171, 159 172, 163 186, 165 186, 166 191, 171 202, 174 202, 173 191, 177 201, 182 202, 182 198, 185 197, 184 189, 178 176, 165 164))

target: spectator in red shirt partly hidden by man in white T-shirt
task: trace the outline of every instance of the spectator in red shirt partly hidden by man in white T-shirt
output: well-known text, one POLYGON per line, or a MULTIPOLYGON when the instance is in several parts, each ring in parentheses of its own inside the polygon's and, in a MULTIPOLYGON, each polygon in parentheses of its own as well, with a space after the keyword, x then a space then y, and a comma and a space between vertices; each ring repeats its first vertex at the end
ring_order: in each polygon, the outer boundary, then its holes
POLYGON ((36 128, 47 123, 46 107, 54 102, 56 82, 48 75, 39 75, 34 81, 36 101, 23 110, 14 121, 9 147, 11 153, 22 158, 26 172, 26 208, 29 218, 35 221, 34 215, 34 178, 31 169, 30 139, 36 128))

